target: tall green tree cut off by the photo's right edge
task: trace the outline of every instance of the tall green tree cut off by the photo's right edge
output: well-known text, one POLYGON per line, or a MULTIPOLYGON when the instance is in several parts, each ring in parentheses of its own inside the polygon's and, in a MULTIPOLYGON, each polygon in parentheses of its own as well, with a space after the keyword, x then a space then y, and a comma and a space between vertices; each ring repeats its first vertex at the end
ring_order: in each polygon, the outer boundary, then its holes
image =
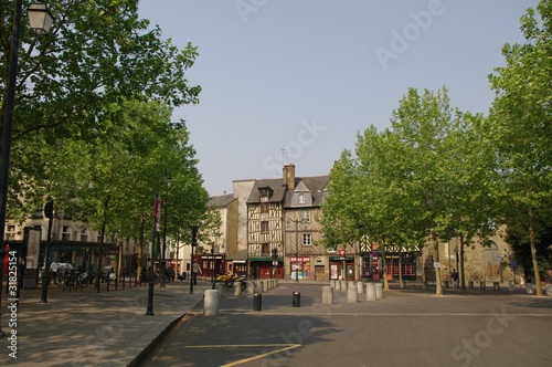
POLYGON ((526 43, 506 44, 506 65, 489 75, 496 98, 487 132, 497 147, 505 222, 524 232, 542 295, 537 239, 552 218, 552 1, 529 9, 521 30, 526 43))

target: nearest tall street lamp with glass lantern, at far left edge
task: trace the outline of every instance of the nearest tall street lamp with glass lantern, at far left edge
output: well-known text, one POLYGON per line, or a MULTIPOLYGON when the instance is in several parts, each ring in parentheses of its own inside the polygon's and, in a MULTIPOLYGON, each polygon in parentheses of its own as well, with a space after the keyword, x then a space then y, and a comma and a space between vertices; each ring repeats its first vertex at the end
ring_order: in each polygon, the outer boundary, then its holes
MULTIPOLYGON (((41 7, 36 4, 31 4, 28 10, 29 20, 31 28, 36 34, 46 34, 50 32, 50 25, 52 25, 54 18, 52 13, 47 10, 46 4, 40 3, 41 7), (34 6, 34 7, 33 7, 34 6), (42 25, 46 28, 39 28, 40 20, 36 18, 43 18, 44 21, 42 25)), ((21 31, 21 13, 23 9, 23 0, 15 0, 13 7, 13 28, 11 32, 11 45, 10 45, 10 67, 8 74, 8 85, 6 94, 6 105, 4 105, 4 119, 2 129, 2 148, 0 151, 0 241, 3 241, 4 229, 6 229, 6 208, 8 203, 8 182, 10 175, 10 151, 11 151, 11 139, 13 130, 13 107, 15 103, 15 82, 18 77, 18 63, 19 63, 19 34, 21 31)), ((3 248, 3 245, 2 245, 3 248)), ((3 274, 1 274, 3 276, 3 274)), ((0 290, 2 289, 2 276, 0 276, 0 290)), ((0 298, 0 310, 1 310, 1 298, 0 298)), ((0 312, 0 325, 1 325, 1 312, 0 312)), ((0 328, 0 337, 3 335, 0 328)))

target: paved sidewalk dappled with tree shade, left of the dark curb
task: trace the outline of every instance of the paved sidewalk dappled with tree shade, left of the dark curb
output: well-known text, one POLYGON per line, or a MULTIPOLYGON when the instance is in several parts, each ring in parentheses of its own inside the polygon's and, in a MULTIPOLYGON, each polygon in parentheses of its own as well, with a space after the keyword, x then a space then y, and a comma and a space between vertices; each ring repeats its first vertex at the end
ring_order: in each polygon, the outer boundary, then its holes
POLYGON ((167 283, 166 289, 156 284, 149 316, 148 284, 126 290, 119 284, 118 291, 100 293, 93 286, 62 292, 51 285, 47 303, 42 304, 40 286, 22 290, 15 314, 2 294, 6 337, 0 339, 0 366, 127 366, 192 311, 210 287, 211 282, 198 281, 189 294, 189 282, 167 283), (10 340, 13 332, 17 339, 10 340))

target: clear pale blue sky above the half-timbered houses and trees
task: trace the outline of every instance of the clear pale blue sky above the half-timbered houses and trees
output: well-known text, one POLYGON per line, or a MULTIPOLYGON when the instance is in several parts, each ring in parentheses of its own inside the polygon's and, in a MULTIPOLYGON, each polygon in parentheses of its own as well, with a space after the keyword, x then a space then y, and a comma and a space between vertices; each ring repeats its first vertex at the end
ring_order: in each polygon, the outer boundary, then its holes
POLYGON ((177 46, 200 104, 187 122, 212 196, 232 181, 328 175, 370 125, 384 129, 410 87, 446 86, 452 104, 487 113, 488 74, 537 0, 140 0, 177 46))

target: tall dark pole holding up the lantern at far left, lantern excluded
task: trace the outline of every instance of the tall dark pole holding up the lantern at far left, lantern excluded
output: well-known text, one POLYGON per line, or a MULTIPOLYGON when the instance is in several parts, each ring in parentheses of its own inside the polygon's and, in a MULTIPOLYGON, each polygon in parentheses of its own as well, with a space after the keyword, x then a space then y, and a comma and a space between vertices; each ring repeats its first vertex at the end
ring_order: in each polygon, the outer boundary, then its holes
MULTIPOLYGON (((10 48, 10 69, 8 74, 7 98, 4 106, 4 119, 2 129, 2 148, 0 153, 0 241, 3 242, 6 230, 6 208, 8 205, 8 182, 10 175, 10 150, 11 135, 13 130, 13 106, 15 104, 15 80, 18 77, 19 62, 19 34, 21 29, 21 12, 23 0, 15 0, 13 7, 13 28, 11 33, 10 48)), ((3 243, 2 243, 3 247, 3 243)), ((3 259, 2 259, 3 261, 3 259)), ((3 269, 0 274, 0 290, 3 289, 3 269)), ((0 296, 0 337, 3 337, 2 332, 2 297, 0 296)))

